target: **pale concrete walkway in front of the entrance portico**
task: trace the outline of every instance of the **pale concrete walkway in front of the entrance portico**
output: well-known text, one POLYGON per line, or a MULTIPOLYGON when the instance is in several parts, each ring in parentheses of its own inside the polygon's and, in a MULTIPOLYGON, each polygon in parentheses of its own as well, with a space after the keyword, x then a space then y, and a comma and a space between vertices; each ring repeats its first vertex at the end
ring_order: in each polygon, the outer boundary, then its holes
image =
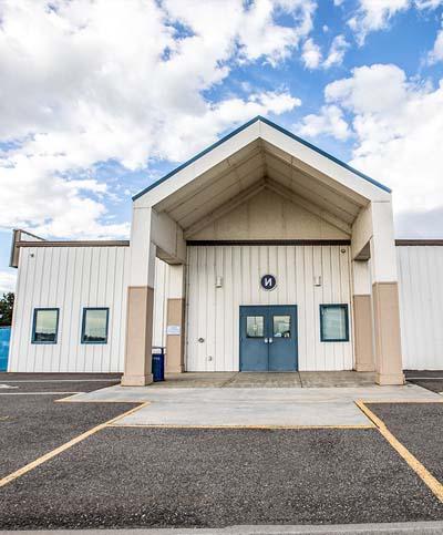
POLYGON ((165 426, 369 426, 354 401, 442 401, 413 384, 360 388, 162 388, 110 387, 76 394, 72 402, 151 404, 117 425, 165 426))

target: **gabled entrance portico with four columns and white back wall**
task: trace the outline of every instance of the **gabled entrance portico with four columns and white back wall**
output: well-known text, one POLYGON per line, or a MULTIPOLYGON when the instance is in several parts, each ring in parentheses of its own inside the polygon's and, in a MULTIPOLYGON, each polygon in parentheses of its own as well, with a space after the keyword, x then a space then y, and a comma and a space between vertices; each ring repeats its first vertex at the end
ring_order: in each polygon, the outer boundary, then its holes
POLYGON ((297 307, 301 371, 403 382, 390 191, 269 121, 250 121, 134 197, 124 385, 152 381, 156 257, 174 266, 171 371, 238 371, 240 307, 286 306, 297 307), (276 289, 259 287, 264 275, 276 289), (324 306, 337 315, 322 318, 324 306), (348 338, 322 337, 340 332, 343 307, 348 338))

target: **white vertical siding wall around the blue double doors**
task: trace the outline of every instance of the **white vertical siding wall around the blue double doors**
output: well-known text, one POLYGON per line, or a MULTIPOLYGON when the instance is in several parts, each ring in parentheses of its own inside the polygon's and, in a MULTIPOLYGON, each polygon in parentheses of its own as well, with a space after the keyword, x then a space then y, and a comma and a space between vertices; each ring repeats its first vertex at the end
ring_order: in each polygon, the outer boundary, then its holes
POLYGON ((349 255, 347 246, 188 247, 187 370, 238 370, 240 305, 297 305, 299 369, 351 370, 352 339, 321 342, 319 311, 321 303, 348 303, 352 337, 349 255), (274 291, 260 289, 266 272, 277 277, 274 291))

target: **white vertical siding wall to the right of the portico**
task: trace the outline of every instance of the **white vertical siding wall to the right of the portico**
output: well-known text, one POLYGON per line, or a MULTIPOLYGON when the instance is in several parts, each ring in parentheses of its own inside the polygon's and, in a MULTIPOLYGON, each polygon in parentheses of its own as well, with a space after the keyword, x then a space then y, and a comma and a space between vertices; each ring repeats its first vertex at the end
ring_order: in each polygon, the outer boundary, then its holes
POLYGON ((443 247, 399 246, 403 368, 443 369, 443 247))

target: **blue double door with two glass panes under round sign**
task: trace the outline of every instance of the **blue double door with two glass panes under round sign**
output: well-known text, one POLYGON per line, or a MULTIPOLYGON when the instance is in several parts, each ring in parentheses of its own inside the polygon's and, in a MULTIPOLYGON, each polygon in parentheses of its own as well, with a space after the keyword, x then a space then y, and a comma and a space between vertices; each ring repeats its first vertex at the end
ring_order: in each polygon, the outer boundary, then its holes
POLYGON ((240 371, 297 371, 297 306, 240 307, 240 371))

